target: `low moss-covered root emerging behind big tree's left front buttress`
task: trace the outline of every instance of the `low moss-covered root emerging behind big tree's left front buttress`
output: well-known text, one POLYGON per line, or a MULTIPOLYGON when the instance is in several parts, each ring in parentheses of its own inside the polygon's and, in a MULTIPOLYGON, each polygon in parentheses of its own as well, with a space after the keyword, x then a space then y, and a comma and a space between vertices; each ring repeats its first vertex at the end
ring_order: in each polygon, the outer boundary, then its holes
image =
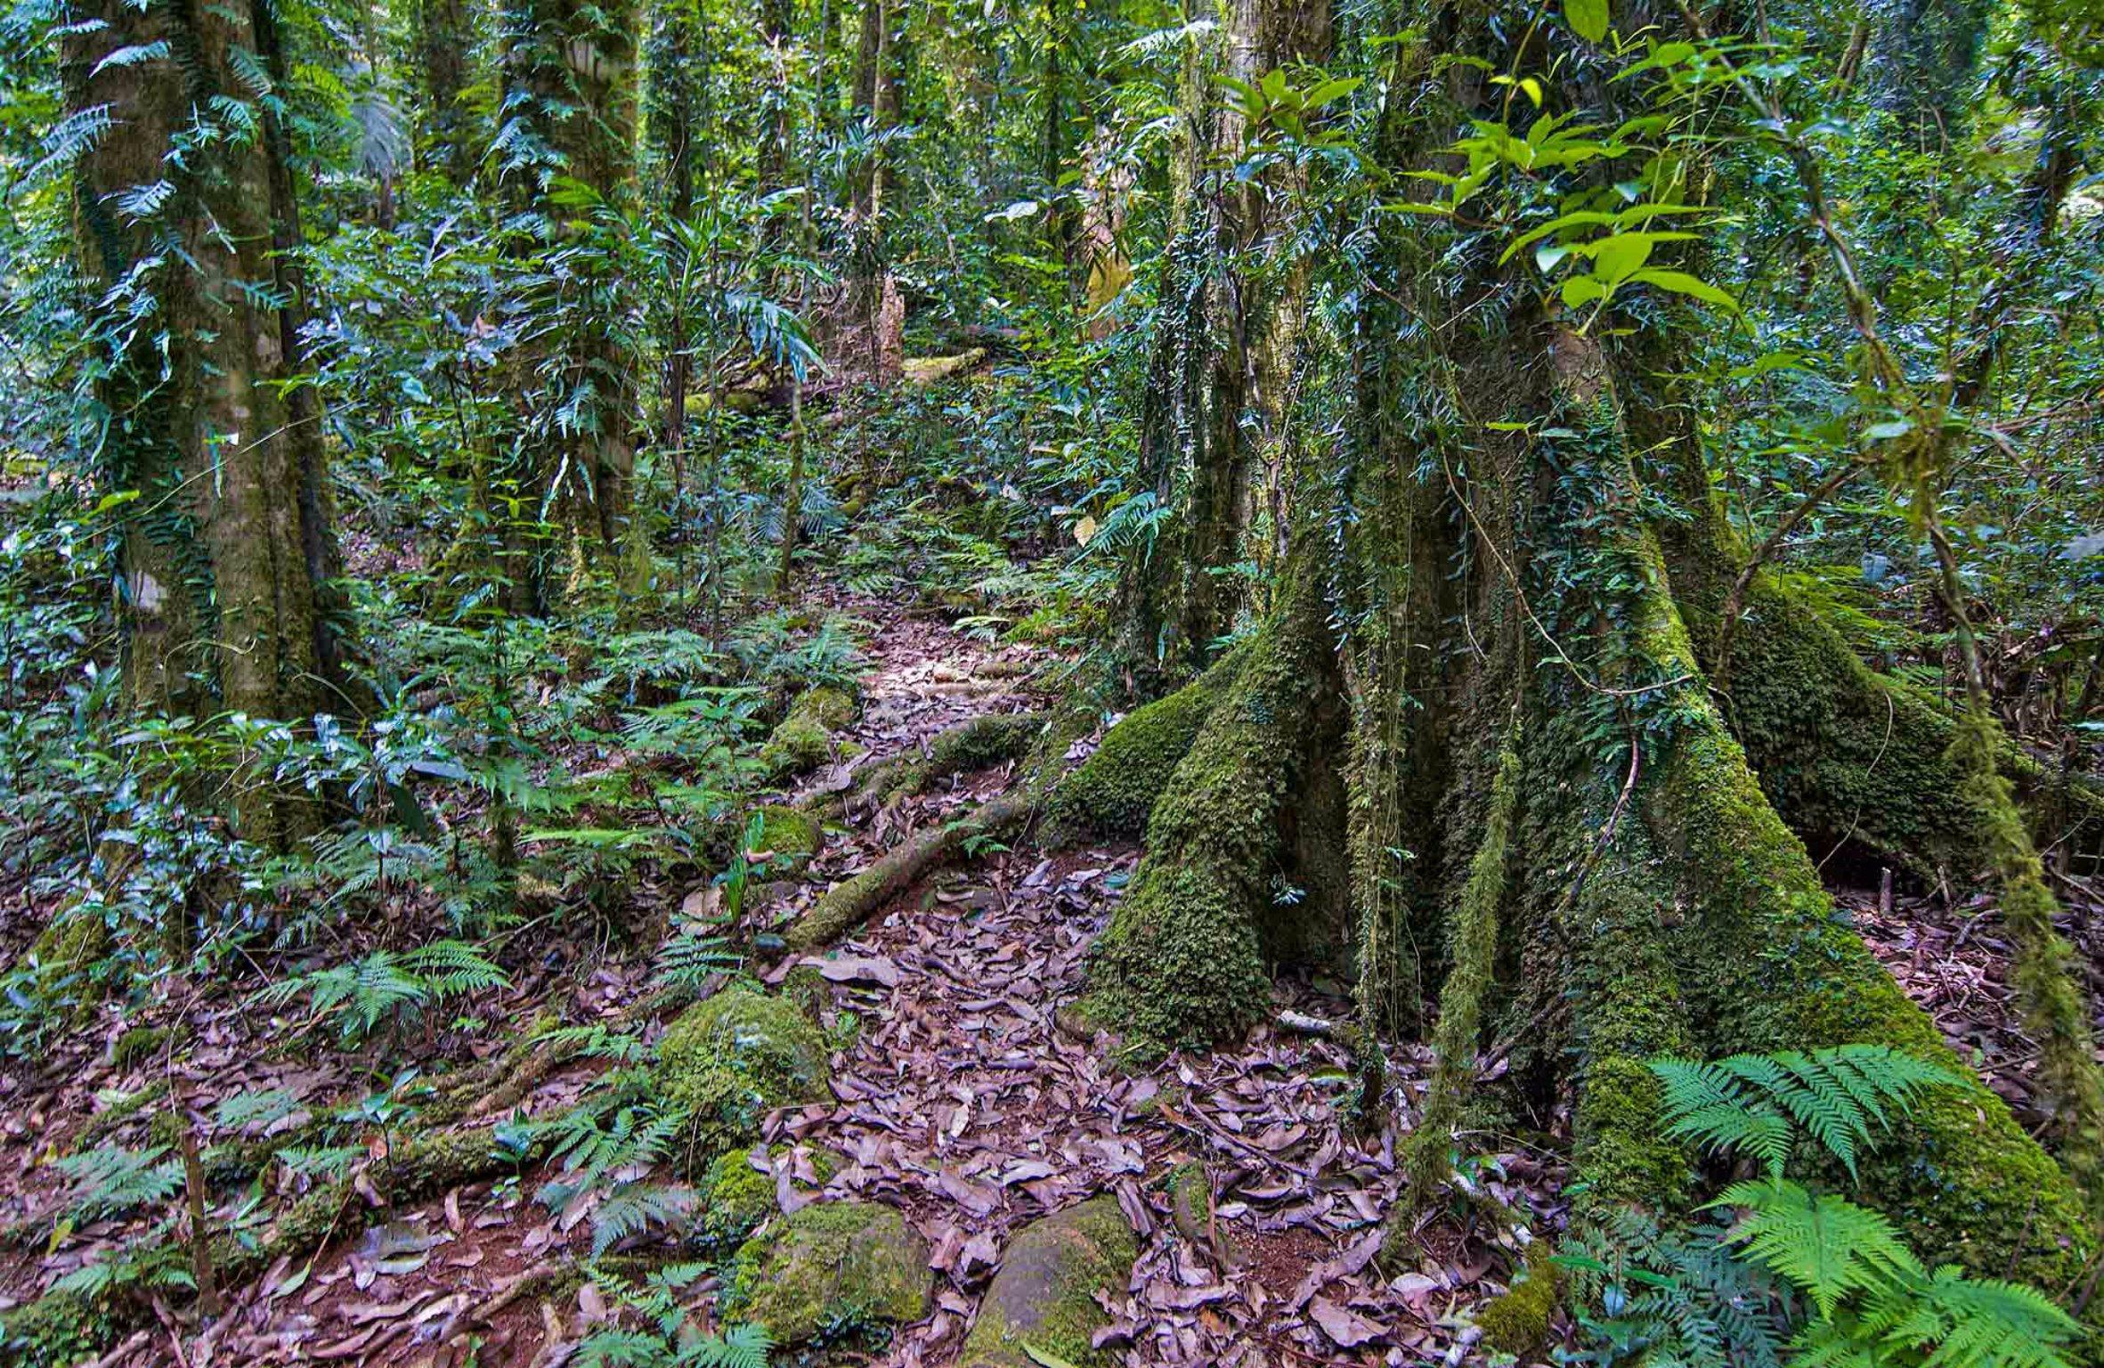
POLYGON ((1138 836, 1199 728, 1233 686, 1243 652, 1128 713, 1096 753, 1052 789, 1048 825, 1069 836, 1138 836))

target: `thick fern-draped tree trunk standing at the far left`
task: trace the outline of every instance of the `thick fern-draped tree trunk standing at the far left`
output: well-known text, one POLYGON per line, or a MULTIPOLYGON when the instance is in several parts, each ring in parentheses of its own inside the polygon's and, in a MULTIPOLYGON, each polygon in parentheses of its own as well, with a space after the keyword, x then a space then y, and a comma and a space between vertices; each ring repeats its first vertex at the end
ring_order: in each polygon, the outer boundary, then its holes
MULTIPOLYGON (((76 166, 76 238, 112 349, 99 434, 122 505, 118 602, 137 707, 299 722, 324 705, 335 572, 320 410, 299 370, 299 217, 261 4, 90 4, 67 29, 67 105, 107 120, 76 166), (175 149, 189 143, 189 152, 175 149)), ((332 703, 341 707, 341 703, 332 703)), ((311 806, 244 781, 246 838, 311 806)))

